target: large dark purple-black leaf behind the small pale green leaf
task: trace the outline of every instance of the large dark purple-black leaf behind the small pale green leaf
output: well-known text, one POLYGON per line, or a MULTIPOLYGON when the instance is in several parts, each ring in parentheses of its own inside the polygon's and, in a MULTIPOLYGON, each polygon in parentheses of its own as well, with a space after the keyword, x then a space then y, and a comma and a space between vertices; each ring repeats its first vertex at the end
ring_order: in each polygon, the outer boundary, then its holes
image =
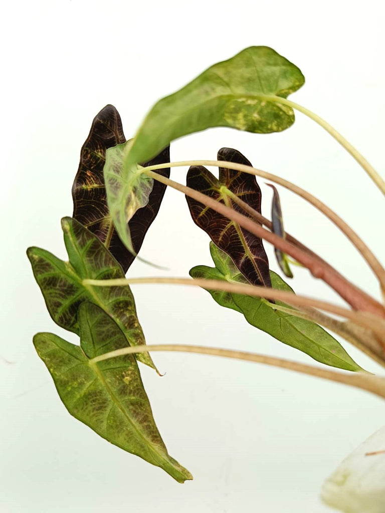
MULTIPOLYGON (((119 112, 112 105, 107 105, 92 122, 90 133, 81 150, 79 170, 72 187, 73 218, 98 236, 120 263, 124 273, 135 257, 120 240, 111 220, 103 168, 106 150, 125 142, 119 112)), ((142 165, 146 167, 163 164, 169 160, 170 149, 167 147, 151 161, 142 165)), ((163 176, 170 175, 169 168, 158 172, 163 176)), ((134 213, 128 223, 134 253, 139 252, 144 236, 157 216, 165 189, 164 184, 154 183, 147 205, 134 213)))

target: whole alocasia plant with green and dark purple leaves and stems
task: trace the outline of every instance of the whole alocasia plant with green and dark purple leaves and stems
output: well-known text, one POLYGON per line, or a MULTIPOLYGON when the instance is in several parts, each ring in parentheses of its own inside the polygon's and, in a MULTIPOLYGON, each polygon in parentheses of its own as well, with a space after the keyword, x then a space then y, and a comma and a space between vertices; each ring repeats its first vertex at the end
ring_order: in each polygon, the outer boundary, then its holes
MULTIPOLYGON (((285 232, 284 207, 270 183, 272 220, 264 218, 255 176, 298 194, 338 226, 373 270, 384 293, 385 269, 354 230, 320 199, 279 176, 253 168, 235 149, 222 148, 216 161, 169 162, 169 144, 178 137, 216 126, 255 133, 282 131, 294 123, 296 109, 333 135, 385 194, 384 181, 341 134, 288 100, 303 83, 301 71, 286 58, 271 48, 251 47, 211 66, 180 91, 160 100, 131 141, 125 140, 118 111, 107 105, 95 117, 82 148, 72 189, 73 219, 62 220, 69 261, 39 248, 27 251, 52 319, 80 336, 80 346, 51 333, 34 337, 36 350, 67 409, 103 438, 163 468, 179 482, 191 475, 167 453, 133 354, 152 368, 150 351, 216 354, 312 374, 385 398, 385 378, 363 371, 323 329, 350 341, 385 367, 385 307, 381 300, 285 232), (170 168, 180 166, 189 166, 186 186, 169 179, 170 168), (219 178, 206 166, 218 167, 219 178), (211 239, 215 267, 195 266, 190 271, 192 279, 126 279, 166 186, 186 195, 192 219, 211 239), (262 240, 273 244, 286 277, 293 277, 288 266, 291 259, 332 287, 348 307, 294 294, 269 268, 262 240), (130 283, 146 282, 203 287, 219 305, 242 313, 254 327, 329 367, 237 349, 147 346, 129 288, 130 283)), ((383 497, 383 488, 376 489, 376 494, 383 497)), ((338 501, 334 503, 343 509, 343 500, 338 501)), ((347 508, 344 510, 353 511, 347 508)))

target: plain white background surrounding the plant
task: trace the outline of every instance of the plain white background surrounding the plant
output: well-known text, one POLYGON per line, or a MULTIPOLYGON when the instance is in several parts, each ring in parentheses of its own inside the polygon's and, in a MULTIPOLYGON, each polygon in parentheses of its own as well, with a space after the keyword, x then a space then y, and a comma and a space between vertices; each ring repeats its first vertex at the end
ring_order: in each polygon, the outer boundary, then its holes
MULTIPOLYGON (((102 2, 15 0, 2 10, 2 340, 0 504, 4 513, 329 511, 319 489, 340 460, 385 423, 383 401, 363 391, 212 357, 154 353, 166 376, 141 366, 172 456, 194 475, 180 485, 73 419, 32 346, 37 331, 76 342, 51 321, 25 250, 61 258, 60 219, 92 119, 107 103, 131 137, 158 98, 215 62, 266 45, 300 67, 292 99, 328 120, 384 173, 385 82, 381 3, 102 2), (14 363, 7 363, 5 360, 14 363)), ((381 255, 383 198, 362 169, 301 114, 279 134, 211 129, 171 146, 171 159, 214 159, 235 147, 252 163, 320 196, 381 255)), ((172 171, 184 182, 185 169, 172 171)), ((271 190, 263 185, 263 213, 271 190)), ((281 190, 287 231, 369 292, 369 268, 321 214, 281 190)), ((273 252, 267 248, 271 266, 273 252)), ((187 276, 210 264, 208 237, 183 196, 167 190, 141 255, 187 276)), ((157 271, 139 262, 131 277, 157 271)), ((298 293, 338 298, 295 269, 298 293)), ((219 307, 200 289, 132 287, 147 343, 242 348, 313 363, 219 307)), ((379 367, 349 344, 368 370, 379 367)))

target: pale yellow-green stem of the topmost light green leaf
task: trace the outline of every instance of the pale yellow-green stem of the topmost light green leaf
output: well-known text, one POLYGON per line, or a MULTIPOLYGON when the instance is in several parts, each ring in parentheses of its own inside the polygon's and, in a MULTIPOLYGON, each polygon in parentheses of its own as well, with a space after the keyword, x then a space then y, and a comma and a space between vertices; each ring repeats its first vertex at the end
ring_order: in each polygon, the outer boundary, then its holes
POLYGON ((298 105, 297 103, 292 102, 291 100, 287 100, 286 98, 281 98, 280 96, 266 95, 263 98, 267 102, 280 103, 281 105, 287 105, 292 109, 296 109, 299 112, 302 112, 302 114, 305 114, 307 117, 310 117, 310 119, 312 119, 316 123, 318 123, 318 125, 324 128, 326 132, 330 133, 330 135, 334 137, 334 139, 338 141, 339 144, 343 146, 345 150, 347 150, 352 155, 353 159, 355 159, 358 162, 358 164, 368 173, 368 175, 377 185, 382 194, 385 194, 385 182, 374 169, 374 167, 371 166, 369 162, 361 155, 361 153, 359 153, 356 150, 356 148, 349 143, 349 141, 347 141, 339 132, 337 132, 335 128, 333 128, 331 125, 329 125, 329 123, 323 120, 322 117, 318 116, 311 110, 302 107, 302 105, 298 105))

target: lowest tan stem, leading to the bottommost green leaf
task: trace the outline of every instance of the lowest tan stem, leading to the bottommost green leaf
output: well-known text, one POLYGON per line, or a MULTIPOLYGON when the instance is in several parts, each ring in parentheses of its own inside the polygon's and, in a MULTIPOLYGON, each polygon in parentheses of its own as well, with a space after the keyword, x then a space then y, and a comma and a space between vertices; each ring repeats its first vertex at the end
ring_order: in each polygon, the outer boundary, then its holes
POLYGON ((233 351, 231 349, 219 349, 217 347, 203 347, 203 346, 190 346, 184 344, 160 344, 155 346, 135 346, 123 347, 122 349, 115 349, 101 356, 92 358, 90 362, 98 363, 110 358, 117 358, 125 354, 133 354, 149 351, 179 351, 198 354, 210 354, 211 356, 219 356, 222 358, 233 358, 236 360, 244 360, 246 362, 262 363, 264 365, 271 365, 280 367, 282 369, 294 370, 309 376, 316 376, 336 383, 344 383, 345 385, 354 386, 372 392, 379 397, 385 398, 385 379, 377 376, 371 376, 368 373, 354 372, 343 374, 342 372, 335 372, 328 369, 315 367, 313 365, 305 365, 302 363, 292 362, 290 360, 283 360, 282 358, 274 358, 271 356, 264 356, 263 354, 249 353, 245 351, 233 351))

